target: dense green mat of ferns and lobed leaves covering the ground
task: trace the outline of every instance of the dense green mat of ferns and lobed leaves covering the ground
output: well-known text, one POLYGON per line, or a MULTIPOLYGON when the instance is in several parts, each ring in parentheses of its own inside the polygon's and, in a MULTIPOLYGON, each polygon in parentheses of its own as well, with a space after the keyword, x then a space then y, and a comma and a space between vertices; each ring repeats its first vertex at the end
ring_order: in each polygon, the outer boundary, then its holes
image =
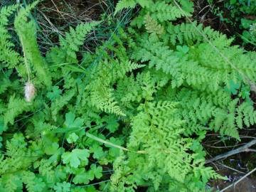
POLYGON ((255 124, 253 49, 198 23, 187 0, 120 0, 49 46, 36 6, 0 11, 0 191, 210 191, 226 179, 202 142, 240 141, 255 124))

